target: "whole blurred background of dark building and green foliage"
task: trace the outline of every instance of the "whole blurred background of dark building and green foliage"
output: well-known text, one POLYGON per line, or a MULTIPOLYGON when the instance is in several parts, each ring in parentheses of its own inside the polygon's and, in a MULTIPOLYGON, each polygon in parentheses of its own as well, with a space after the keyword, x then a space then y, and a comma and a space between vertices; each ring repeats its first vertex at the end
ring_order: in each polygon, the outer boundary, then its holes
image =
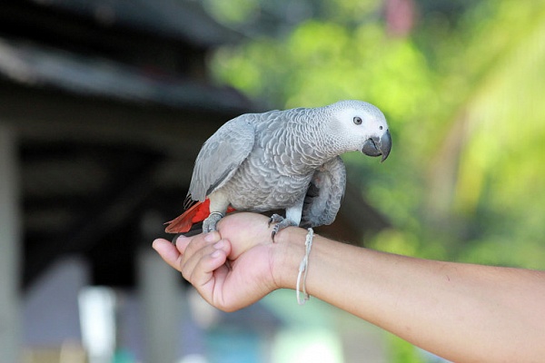
POLYGON ((279 290, 221 313, 151 250, 202 143, 247 112, 362 99, 322 234, 545 269, 545 3, 4 0, 1 362, 437 362, 279 290))

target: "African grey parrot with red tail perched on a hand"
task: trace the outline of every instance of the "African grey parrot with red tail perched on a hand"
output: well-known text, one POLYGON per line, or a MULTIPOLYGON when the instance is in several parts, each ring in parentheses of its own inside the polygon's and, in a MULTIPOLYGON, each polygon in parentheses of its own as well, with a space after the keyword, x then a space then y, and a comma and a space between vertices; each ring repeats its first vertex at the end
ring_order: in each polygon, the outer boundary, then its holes
POLYGON ((203 144, 184 202, 186 211, 168 222, 169 233, 203 221, 215 231, 227 211, 285 210, 273 214, 272 237, 288 226, 331 224, 341 206, 346 170, 339 157, 391 150, 381 111, 362 101, 318 108, 246 113, 223 124, 203 144))

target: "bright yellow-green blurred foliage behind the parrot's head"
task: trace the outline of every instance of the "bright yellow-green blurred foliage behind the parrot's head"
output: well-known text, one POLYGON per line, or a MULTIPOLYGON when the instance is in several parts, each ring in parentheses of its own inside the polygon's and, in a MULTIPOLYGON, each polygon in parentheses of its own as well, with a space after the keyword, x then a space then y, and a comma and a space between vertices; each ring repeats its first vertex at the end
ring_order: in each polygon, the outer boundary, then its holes
POLYGON ((416 26, 395 35, 381 1, 314 2, 284 34, 221 49, 213 70, 271 107, 381 108, 389 160, 345 157, 394 226, 367 245, 545 269, 545 3, 451 3, 416 2, 416 26))

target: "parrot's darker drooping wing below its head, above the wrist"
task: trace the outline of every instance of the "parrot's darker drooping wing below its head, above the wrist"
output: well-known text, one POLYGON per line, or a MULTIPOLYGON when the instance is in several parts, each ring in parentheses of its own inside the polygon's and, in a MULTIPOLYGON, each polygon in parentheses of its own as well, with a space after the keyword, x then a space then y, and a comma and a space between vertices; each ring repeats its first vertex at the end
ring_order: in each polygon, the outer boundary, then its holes
POLYGON ((302 207, 302 227, 332 224, 341 207, 346 187, 346 168, 340 157, 314 172, 302 207))

